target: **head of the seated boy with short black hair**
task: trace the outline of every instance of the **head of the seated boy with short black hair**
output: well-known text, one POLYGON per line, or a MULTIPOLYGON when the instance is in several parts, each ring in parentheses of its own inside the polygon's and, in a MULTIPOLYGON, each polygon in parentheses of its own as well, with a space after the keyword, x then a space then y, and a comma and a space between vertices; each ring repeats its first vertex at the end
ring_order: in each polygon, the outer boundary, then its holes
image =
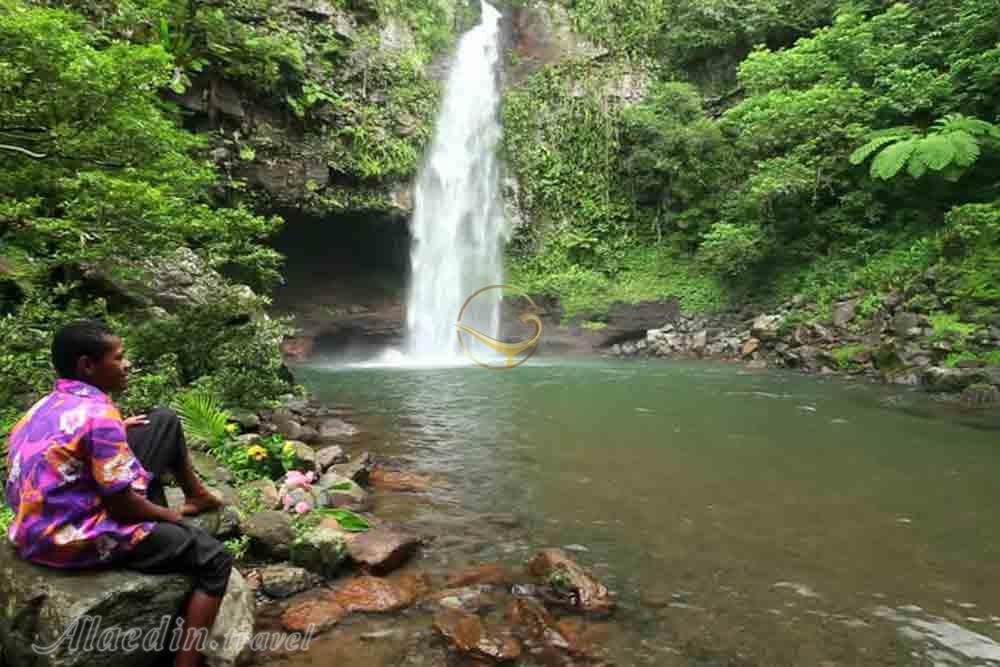
POLYGON ((121 338, 94 320, 70 322, 56 332, 52 365, 59 377, 80 380, 104 392, 124 390, 131 367, 121 338))

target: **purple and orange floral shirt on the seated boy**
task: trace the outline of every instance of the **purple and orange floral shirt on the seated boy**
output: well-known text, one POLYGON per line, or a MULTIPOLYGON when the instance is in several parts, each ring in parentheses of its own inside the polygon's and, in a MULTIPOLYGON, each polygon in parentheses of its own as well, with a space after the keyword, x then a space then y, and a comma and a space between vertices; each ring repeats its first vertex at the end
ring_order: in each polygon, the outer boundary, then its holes
POLYGON ((112 519, 102 496, 131 486, 145 496, 150 475, 125 439, 121 414, 103 392, 57 380, 10 434, 8 537, 22 558, 62 568, 114 560, 148 535, 152 522, 112 519))

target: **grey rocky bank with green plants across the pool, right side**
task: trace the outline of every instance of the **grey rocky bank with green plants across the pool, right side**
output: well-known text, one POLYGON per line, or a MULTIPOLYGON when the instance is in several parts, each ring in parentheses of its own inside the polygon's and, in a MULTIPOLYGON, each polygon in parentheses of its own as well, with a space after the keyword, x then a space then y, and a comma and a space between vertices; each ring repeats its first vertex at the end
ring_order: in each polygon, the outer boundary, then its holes
POLYGON ((1000 320, 966 324, 926 292, 875 299, 852 294, 825 313, 798 299, 765 312, 677 312, 602 349, 615 357, 720 359, 752 368, 867 376, 968 407, 1000 405, 1000 320))

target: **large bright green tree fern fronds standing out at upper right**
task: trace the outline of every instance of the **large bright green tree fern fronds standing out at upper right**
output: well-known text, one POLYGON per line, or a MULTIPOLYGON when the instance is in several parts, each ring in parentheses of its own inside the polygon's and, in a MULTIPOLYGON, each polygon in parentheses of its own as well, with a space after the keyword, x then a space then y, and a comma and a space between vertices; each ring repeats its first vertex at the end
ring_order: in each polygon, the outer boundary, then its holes
POLYGON ((978 118, 948 114, 923 134, 917 134, 912 127, 872 133, 868 143, 851 154, 850 161, 858 165, 874 155, 871 175, 882 180, 894 178, 903 167, 913 178, 934 171, 947 180, 957 180, 979 159, 983 145, 995 148, 998 140, 1000 127, 978 118))

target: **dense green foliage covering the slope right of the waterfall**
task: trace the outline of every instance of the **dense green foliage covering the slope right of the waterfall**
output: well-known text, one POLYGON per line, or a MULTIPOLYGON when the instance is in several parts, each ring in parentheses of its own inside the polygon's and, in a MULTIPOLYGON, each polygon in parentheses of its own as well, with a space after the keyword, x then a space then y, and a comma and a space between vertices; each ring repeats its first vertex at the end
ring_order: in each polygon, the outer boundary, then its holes
POLYGON ((689 309, 822 305, 933 269, 950 307, 986 321, 1000 306, 998 11, 573 3, 607 54, 546 67, 505 100, 508 163, 537 223, 515 235, 514 275, 599 312, 708 278, 722 293, 689 309))

